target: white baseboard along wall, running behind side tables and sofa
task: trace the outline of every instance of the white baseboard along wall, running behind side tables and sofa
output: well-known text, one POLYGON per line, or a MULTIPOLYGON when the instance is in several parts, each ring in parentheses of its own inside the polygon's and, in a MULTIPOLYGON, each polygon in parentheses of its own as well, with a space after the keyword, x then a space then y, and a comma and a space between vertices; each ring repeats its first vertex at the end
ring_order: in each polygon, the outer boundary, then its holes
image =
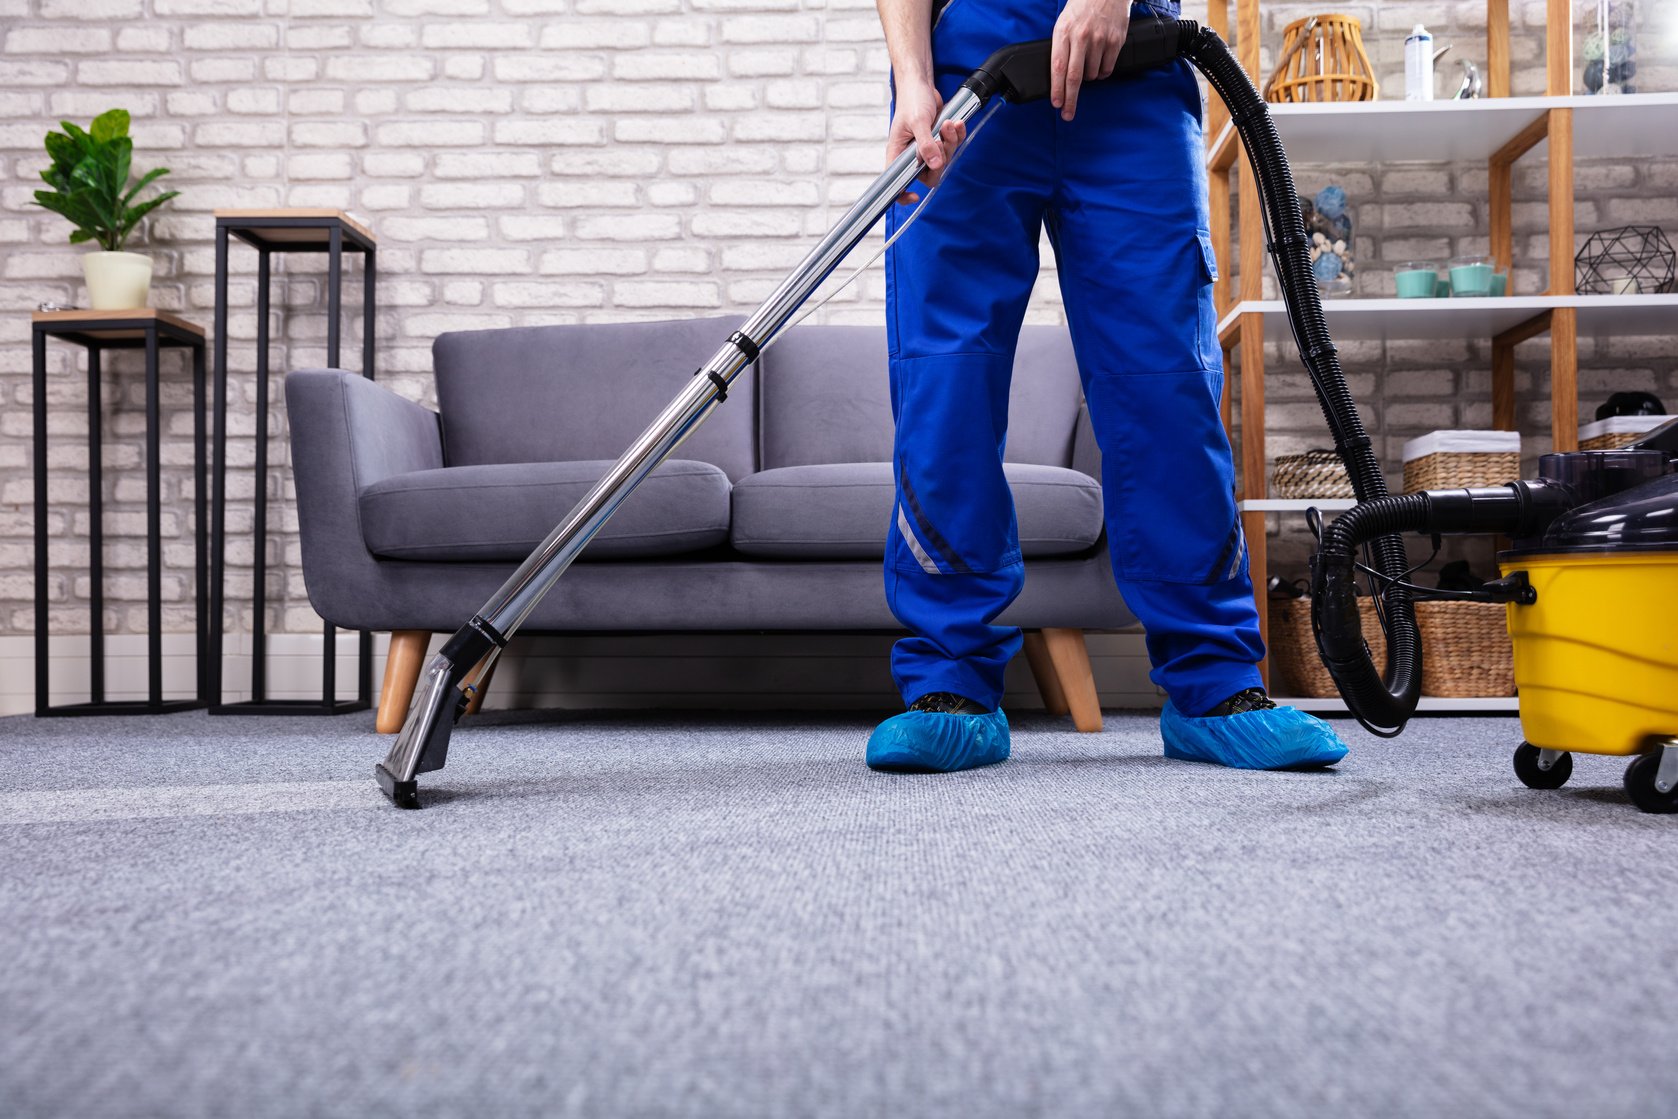
MULTIPOLYGON (((441 646, 438 634, 431 648, 441 646)), ((320 695, 324 634, 274 634, 268 698, 320 695)), ((223 659, 225 700, 250 698, 250 634, 230 634, 223 659)), ((337 634, 337 696, 354 698, 357 638, 337 634)), ((373 638, 373 686, 384 674, 389 634, 373 638)), ((54 638, 50 701, 81 703, 89 693, 89 639, 54 638)), ((656 634, 520 638, 497 668, 488 708, 711 708, 879 710, 898 698, 891 684, 891 638, 871 634, 656 634)), ((1102 706, 1158 708, 1139 632, 1091 634, 1089 658, 1102 706)), ((163 636, 166 698, 193 691, 193 634, 163 636)), ((146 698, 146 638, 106 638, 106 698, 146 698)), ((1024 658, 1008 666, 1003 705, 1040 708, 1024 658)), ((0 636, 0 715, 35 710, 35 639, 0 636)))

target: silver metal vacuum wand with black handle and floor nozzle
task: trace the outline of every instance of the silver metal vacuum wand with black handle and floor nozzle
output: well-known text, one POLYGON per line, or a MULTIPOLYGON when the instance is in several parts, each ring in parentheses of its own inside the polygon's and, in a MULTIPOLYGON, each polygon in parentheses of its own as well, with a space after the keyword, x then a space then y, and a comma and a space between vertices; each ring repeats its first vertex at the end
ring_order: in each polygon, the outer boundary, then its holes
MULTIPOLYGON (((1195 23, 1176 20, 1133 27, 1114 74, 1134 74, 1178 57, 1181 44, 1193 30, 1198 30, 1195 23)), ((1012 102, 1037 101, 1049 94, 1049 40, 1003 47, 987 59, 945 102, 935 133, 941 133, 946 122, 968 122, 997 94, 1012 102)), ((420 807, 416 777, 443 768, 450 731, 482 681, 488 678, 507 639, 525 622, 530 611, 559 582, 618 507, 681 446, 713 408, 728 398, 733 379, 757 361, 758 352, 787 327, 821 282, 925 169, 926 163, 915 146, 893 159, 884 174, 874 180, 792 275, 782 280, 710 361, 695 371, 681 393, 519 565, 495 597, 485 602, 431 659, 389 755, 374 767, 374 777, 391 800, 401 807, 420 807)))

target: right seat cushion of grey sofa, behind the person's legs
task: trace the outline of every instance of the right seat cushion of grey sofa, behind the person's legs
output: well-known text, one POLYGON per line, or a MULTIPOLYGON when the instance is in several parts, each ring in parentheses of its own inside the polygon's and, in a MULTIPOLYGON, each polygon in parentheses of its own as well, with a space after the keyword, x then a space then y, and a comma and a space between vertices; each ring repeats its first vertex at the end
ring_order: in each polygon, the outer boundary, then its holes
MULTIPOLYGON (((1020 552, 1072 555, 1101 539, 1101 485, 1064 466, 1007 463, 1020 552)), ((891 463, 780 466, 733 488, 730 540, 745 555, 881 559, 891 523, 891 463)))

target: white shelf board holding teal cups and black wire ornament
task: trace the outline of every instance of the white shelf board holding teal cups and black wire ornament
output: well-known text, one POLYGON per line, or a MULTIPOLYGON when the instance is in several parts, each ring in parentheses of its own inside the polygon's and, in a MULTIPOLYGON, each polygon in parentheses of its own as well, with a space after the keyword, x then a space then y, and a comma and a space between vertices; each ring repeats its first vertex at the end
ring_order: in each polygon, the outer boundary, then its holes
MULTIPOLYGON (((1678 295, 1507 295, 1503 299, 1329 299, 1322 312, 1329 334, 1342 341, 1490 339, 1532 315, 1557 307, 1579 309, 1581 336, 1678 336, 1678 295)), ((1265 332, 1287 336, 1287 309, 1279 299, 1237 304, 1218 324, 1262 314, 1265 332)))

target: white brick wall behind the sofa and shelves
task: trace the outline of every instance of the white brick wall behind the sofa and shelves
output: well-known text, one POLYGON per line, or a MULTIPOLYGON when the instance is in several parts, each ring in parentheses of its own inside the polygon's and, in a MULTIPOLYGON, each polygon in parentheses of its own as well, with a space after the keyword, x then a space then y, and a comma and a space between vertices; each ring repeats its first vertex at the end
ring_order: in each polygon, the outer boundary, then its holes
MULTIPOLYGON (((1515 8, 1515 92, 1542 89, 1544 5, 1515 8)), ((1644 5, 1646 10, 1666 5, 1644 5)), ((1265 65, 1289 18, 1321 8, 1267 3, 1265 65)), ((1483 60, 1480 0, 1363 3, 1381 81, 1401 87, 1401 39, 1425 18, 1448 59, 1483 60)), ((1205 7, 1190 3, 1188 15, 1205 7)), ((1651 23, 1666 15, 1655 12, 1651 23)), ((1651 34, 1653 39, 1653 34, 1651 34)), ((1678 87, 1671 52, 1646 47, 1644 87, 1678 87), (1665 65, 1665 69, 1663 69, 1665 65), (1663 86, 1660 82, 1665 82, 1663 86)), ((1445 67, 1455 72, 1453 67, 1445 67)), ((0 632, 32 631, 27 310, 84 304, 64 223, 29 206, 40 138, 60 116, 134 114, 138 166, 168 164, 183 191, 139 247, 156 257, 154 304, 210 324, 218 206, 341 206, 381 245, 379 377, 431 399, 430 344, 450 329, 748 310, 812 237, 873 178, 886 114, 886 54, 873 0, 0 0, 0 632)), ((1347 186, 1361 284, 1383 262, 1485 247, 1485 169, 1305 168, 1300 186, 1347 186)), ((1581 168, 1581 235, 1599 223, 1678 225, 1675 164, 1581 168)), ((1517 289, 1544 284, 1542 163, 1522 164, 1517 289)), ((1678 233, 1678 228, 1673 230, 1678 233)), ((322 262, 279 258, 275 369, 324 362, 322 262)), ((232 525, 248 530, 253 483, 253 253, 233 248, 232 525)), ((356 268, 344 354, 359 354, 356 268)), ((866 277, 827 320, 879 322, 866 277)), ((1052 275, 1034 320, 1057 320, 1052 275)), ((1542 347, 1522 366, 1522 421, 1547 424, 1542 347)), ((1396 453, 1401 438, 1488 419, 1482 344, 1349 347, 1354 386, 1396 453), (1383 372, 1384 371, 1384 372, 1383 372), (1378 376, 1379 374, 1379 376, 1378 376)), ((1274 366, 1274 453, 1321 445, 1311 391, 1274 366)), ((1670 342, 1582 347, 1582 411, 1614 388, 1678 406, 1670 342)), ((54 626, 86 631, 84 398, 69 347, 52 351, 54 626)), ((107 626, 144 622, 143 418, 133 356, 107 359, 107 626)), ((164 362, 166 542, 186 557, 186 367, 164 362)), ((314 632, 295 569, 295 510, 275 383, 270 624, 314 632)), ((232 596, 248 591, 248 542, 230 547, 232 596)), ((169 579, 171 629, 188 627, 185 580, 169 579)), ((233 609, 230 624, 248 627, 233 609)))

